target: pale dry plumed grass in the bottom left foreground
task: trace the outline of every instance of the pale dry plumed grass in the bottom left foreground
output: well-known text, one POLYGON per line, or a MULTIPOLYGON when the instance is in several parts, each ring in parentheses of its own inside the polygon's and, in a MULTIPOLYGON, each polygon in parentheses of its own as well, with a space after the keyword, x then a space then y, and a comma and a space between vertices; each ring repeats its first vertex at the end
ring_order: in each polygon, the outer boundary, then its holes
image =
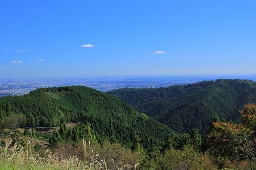
POLYGON ((5 147, 0 147, 0 169, 88 169, 88 170, 111 170, 111 169, 136 169, 135 165, 123 165, 118 162, 113 167, 108 167, 105 159, 100 159, 98 154, 90 149, 90 142, 83 141, 82 157, 65 156, 45 150, 40 154, 33 151, 30 141, 27 147, 21 147, 16 143, 11 146, 11 141, 5 147))

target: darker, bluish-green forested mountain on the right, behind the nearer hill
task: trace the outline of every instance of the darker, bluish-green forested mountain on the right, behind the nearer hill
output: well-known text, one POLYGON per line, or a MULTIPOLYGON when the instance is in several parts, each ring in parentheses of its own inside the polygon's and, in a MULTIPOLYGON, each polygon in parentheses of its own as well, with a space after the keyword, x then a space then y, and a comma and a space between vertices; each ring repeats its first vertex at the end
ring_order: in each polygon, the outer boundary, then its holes
POLYGON ((213 115, 239 121, 238 110, 256 102, 256 82, 216 80, 166 88, 124 88, 108 92, 178 132, 205 134, 213 115))

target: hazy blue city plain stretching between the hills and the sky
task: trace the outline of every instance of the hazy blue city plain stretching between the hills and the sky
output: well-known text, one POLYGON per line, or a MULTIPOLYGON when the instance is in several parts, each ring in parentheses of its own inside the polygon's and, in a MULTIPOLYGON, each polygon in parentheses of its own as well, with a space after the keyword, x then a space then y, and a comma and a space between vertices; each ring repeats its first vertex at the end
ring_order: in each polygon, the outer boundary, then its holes
POLYGON ((216 79, 248 79, 256 81, 256 75, 232 76, 97 76, 79 78, 0 79, 0 98, 7 95, 23 95, 42 87, 88 86, 100 91, 118 88, 158 88, 184 85, 216 79))

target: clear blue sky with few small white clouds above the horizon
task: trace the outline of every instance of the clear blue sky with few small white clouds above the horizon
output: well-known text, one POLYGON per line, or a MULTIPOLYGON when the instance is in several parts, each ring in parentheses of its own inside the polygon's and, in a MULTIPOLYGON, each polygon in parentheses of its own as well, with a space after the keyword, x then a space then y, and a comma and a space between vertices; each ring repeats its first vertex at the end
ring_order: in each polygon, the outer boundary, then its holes
POLYGON ((253 75, 255 8, 250 0, 1 1, 0 78, 253 75))

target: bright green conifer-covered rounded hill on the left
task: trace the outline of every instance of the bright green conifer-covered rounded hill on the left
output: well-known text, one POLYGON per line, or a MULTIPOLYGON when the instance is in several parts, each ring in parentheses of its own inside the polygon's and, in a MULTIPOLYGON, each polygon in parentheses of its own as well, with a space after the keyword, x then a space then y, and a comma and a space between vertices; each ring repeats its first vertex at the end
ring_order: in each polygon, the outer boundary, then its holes
POLYGON ((138 135, 146 147, 160 143, 173 132, 119 99, 82 86, 40 88, 23 96, 3 97, 0 99, 0 120, 10 114, 24 114, 26 127, 90 123, 99 142, 114 138, 131 145, 138 135))

